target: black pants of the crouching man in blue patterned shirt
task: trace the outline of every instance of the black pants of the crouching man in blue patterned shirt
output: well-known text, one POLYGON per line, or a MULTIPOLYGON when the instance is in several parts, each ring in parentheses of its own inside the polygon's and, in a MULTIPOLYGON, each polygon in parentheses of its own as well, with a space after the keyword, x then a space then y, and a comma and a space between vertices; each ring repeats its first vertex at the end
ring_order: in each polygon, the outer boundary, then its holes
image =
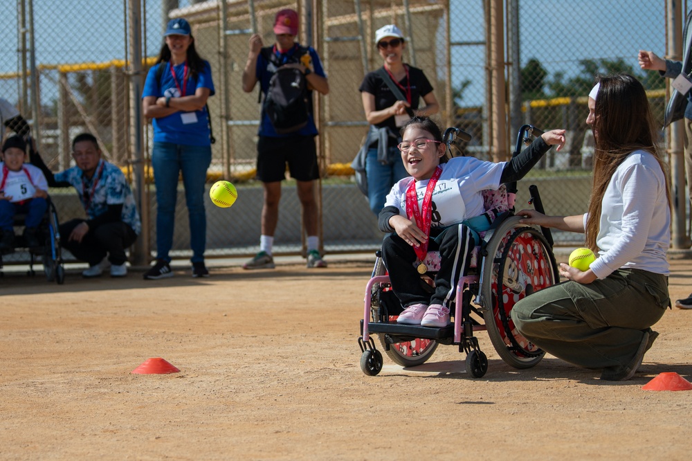
POLYGON ((108 260, 113 265, 120 265, 127 261, 125 248, 128 248, 137 239, 137 234, 124 222, 109 222, 95 229, 89 229, 82 242, 69 241, 72 230, 84 219, 72 219, 60 224, 60 244, 75 255, 80 261, 86 261, 89 266, 95 266, 108 255, 108 260))

